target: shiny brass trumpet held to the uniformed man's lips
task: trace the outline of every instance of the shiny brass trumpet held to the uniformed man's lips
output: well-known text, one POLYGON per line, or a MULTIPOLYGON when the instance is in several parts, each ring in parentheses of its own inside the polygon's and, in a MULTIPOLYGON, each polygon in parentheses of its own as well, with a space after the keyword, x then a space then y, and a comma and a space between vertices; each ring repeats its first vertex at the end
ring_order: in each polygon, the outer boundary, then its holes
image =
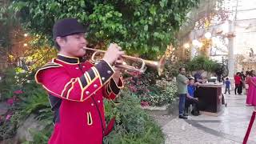
MULTIPOLYGON (((97 54, 106 53, 105 50, 95 50, 95 49, 88 48, 88 47, 84 47, 84 49, 94 51, 94 54, 92 54, 92 56, 91 56, 92 62, 99 61, 95 58, 97 54)), ((140 68, 136 68, 135 66, 127 65, 126 62, 122 62, 122 64, 116 63, 114 66, 116 66, 118 68, 122 68, 124 70, 134 71, 134 72, 138 72, 138 73, 144 73, 146 71, 146 66, 150 66, 150 67, 158 70, 158 75, 161 75, 162 71, 164 69, 165 63, 166 63, 166 58, 164 56, 162 58, 160 58, 159 62, 145 60, 142 58, 131 57, 129 55, 122 55, 122 58, 126 59, 126 60, 131 60, 134 62, 141 62, 141 66, 140 66, 140 68)))

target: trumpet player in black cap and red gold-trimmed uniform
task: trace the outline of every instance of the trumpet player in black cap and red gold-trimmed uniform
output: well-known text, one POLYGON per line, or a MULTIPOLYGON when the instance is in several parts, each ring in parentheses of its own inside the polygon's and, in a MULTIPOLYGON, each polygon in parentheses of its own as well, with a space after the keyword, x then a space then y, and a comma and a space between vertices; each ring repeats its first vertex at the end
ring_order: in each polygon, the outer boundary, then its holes
POLYGON ((94 65, 83 58, 88 45, 85 33, 75 18, 56 22, 53 38, 58 56, 35 74, 54 111, 50 144, 100 144, 113 127, 106 126, 103 97, 114 99, 123 87, 120 71, 112 65, 124 52, 117 44, 110 44, 94 65))

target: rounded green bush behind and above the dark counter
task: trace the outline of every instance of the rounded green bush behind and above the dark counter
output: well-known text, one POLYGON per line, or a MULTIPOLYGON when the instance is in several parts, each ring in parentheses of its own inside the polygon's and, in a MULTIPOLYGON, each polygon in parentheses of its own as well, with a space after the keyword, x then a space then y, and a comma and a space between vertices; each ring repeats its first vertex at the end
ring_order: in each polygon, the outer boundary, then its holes
POLYGON ((190 62, 186 63, 186 69, 190 71, 194 70, 206 70, 209 72, 215 72, 219 67, 219 64, 204 56, 198 56, 193 58, 190 62))

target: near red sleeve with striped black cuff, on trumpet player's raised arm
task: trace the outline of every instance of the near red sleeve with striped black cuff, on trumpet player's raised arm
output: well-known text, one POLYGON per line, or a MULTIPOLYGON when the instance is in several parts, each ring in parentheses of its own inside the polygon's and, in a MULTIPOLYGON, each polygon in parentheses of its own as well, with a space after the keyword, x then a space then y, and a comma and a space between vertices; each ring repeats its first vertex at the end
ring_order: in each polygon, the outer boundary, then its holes
POLYGON ((112 67, 101 61, 80 77, 71 78, 63 66, 50 62, 37 71, 35 80, 58 98, 83 102, 106 85, 113 74, 112 67))

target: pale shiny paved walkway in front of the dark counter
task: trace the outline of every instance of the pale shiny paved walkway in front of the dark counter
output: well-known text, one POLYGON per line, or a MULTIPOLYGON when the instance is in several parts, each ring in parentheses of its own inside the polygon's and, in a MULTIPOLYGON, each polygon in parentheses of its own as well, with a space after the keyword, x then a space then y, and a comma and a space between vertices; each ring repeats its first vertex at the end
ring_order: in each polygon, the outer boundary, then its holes
MULTIPOLYGON (((239 144, 246 134, 254 108, 246 106, 246 95, 225 95, 227 107, 218 116, 189 116, 188 120, 177 116, 162 116, 158 122, 166 134, 166 144, 239 144)), ((248 144, 256 143, 256 122, 248 144)))

